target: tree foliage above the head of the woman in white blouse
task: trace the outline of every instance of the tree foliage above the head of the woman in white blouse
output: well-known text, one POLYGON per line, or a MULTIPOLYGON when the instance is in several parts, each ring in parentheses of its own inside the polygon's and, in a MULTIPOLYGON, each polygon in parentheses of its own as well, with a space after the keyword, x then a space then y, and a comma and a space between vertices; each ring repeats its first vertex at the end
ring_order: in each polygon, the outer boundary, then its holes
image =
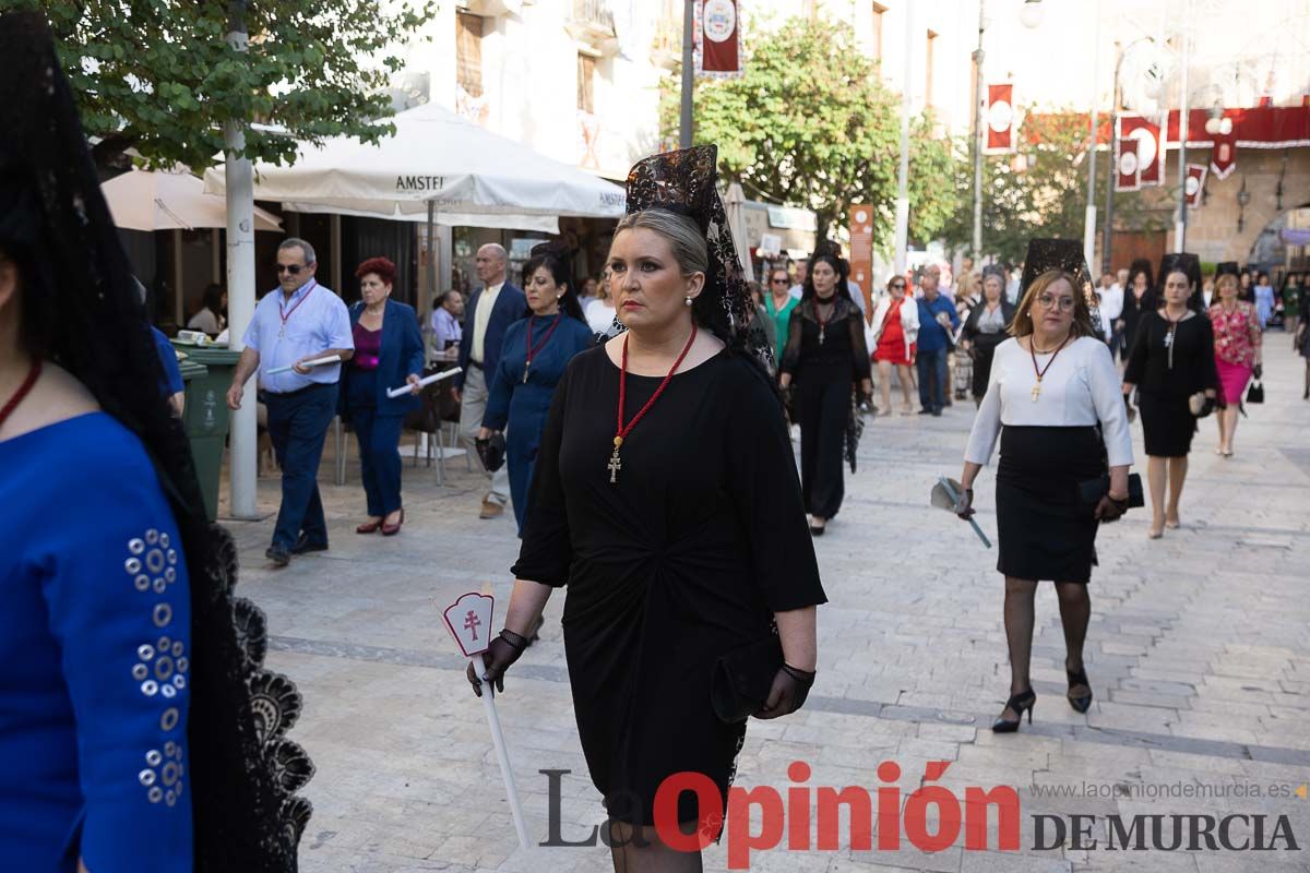
MULTIPOLYGON (((1034 237, 1081 241, 1087 205, 1087 116, 1030 110, 1018 136, 1018 154, 982 158, 982 254, 1007 263, 1022 262, 1034 237)), ((950 216, 942 237, 948 249, 968 251, 973 240, 973 157, 968 137, 955 141, 955 156, 954 187, 960 208, 950 216)), ((1098 154, 1100 220, 1110 182, 1108 153, 1098 154)), ((1115 225, 1155 229, 1158 209, 1136 192, 1116 194, 1115 225)))

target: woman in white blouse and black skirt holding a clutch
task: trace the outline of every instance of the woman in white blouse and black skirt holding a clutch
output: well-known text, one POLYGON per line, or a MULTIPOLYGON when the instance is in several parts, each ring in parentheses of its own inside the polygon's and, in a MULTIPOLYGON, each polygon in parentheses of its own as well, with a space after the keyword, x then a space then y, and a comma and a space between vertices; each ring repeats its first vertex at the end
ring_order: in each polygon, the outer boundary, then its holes
POLYGON ((964 453, 965 491, 956 513, 968 518, 973 480, 1001 435, 997 569, 1005 575, 1011 678, 1010 699, 992 726, 1000 733, 1017 730, 1024 709, 1032 721, 1036 695, 1028 664, 1039 580, 1052 580, 1060 598, 1069 703, 1078 712, 1091 705, 1082 647, 1091 615, 1087 582, 1096 563, 1096 526, 1119 518, 1128 507, 1133 449, 1119 372, 1095 336, 1077 285, 1062 270, 1048 270, 1028 285, 1010 326, 1013 338, 996 349, 964 453), (1107 461, 1108 490, 1089 505, 1083 484, 1100 480, 1107 461))

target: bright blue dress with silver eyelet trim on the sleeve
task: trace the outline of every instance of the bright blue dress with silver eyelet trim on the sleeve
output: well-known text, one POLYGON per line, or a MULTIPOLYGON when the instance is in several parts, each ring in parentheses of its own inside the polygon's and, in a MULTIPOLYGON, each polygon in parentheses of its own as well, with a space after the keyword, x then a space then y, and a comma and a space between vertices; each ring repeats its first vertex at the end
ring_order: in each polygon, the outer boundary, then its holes
POLYGON ((140 441, 103 412, 0 441, 0 868, 191 869, 191 599, 140 441))

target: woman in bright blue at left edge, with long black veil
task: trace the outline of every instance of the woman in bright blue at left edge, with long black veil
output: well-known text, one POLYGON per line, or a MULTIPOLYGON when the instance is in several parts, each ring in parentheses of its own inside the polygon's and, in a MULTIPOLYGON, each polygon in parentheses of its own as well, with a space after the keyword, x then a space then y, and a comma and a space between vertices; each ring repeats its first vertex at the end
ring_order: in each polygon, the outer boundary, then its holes
POLYGON ((0 868, 292 870, 299 695, 231 596, 42 16, 0 16, 0 868))

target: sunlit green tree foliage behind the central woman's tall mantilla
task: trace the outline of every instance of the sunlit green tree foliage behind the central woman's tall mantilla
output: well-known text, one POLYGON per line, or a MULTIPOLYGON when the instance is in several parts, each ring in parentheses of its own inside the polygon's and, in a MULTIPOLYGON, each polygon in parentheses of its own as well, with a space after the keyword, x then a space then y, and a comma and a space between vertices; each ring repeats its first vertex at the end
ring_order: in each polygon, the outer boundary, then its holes
MULTIPOLYGON (((751 33, 745 73, 696 84, 694 141, 719 147, 722 173, 765 198, 812 209, 819 237, 845 226, 855 203, 874 207, 875 243, 886 247, 896 211, 900 97, 845 29, 808 17, 751 33)), ((676 79, 675 79, 676 81, 676 79)), ((663 127, 677 139, 677 94, 665 96, 663 127)), ((933 119, 910 137, 910 236, 931 238, 955 209, 950 143, 933 119)))

